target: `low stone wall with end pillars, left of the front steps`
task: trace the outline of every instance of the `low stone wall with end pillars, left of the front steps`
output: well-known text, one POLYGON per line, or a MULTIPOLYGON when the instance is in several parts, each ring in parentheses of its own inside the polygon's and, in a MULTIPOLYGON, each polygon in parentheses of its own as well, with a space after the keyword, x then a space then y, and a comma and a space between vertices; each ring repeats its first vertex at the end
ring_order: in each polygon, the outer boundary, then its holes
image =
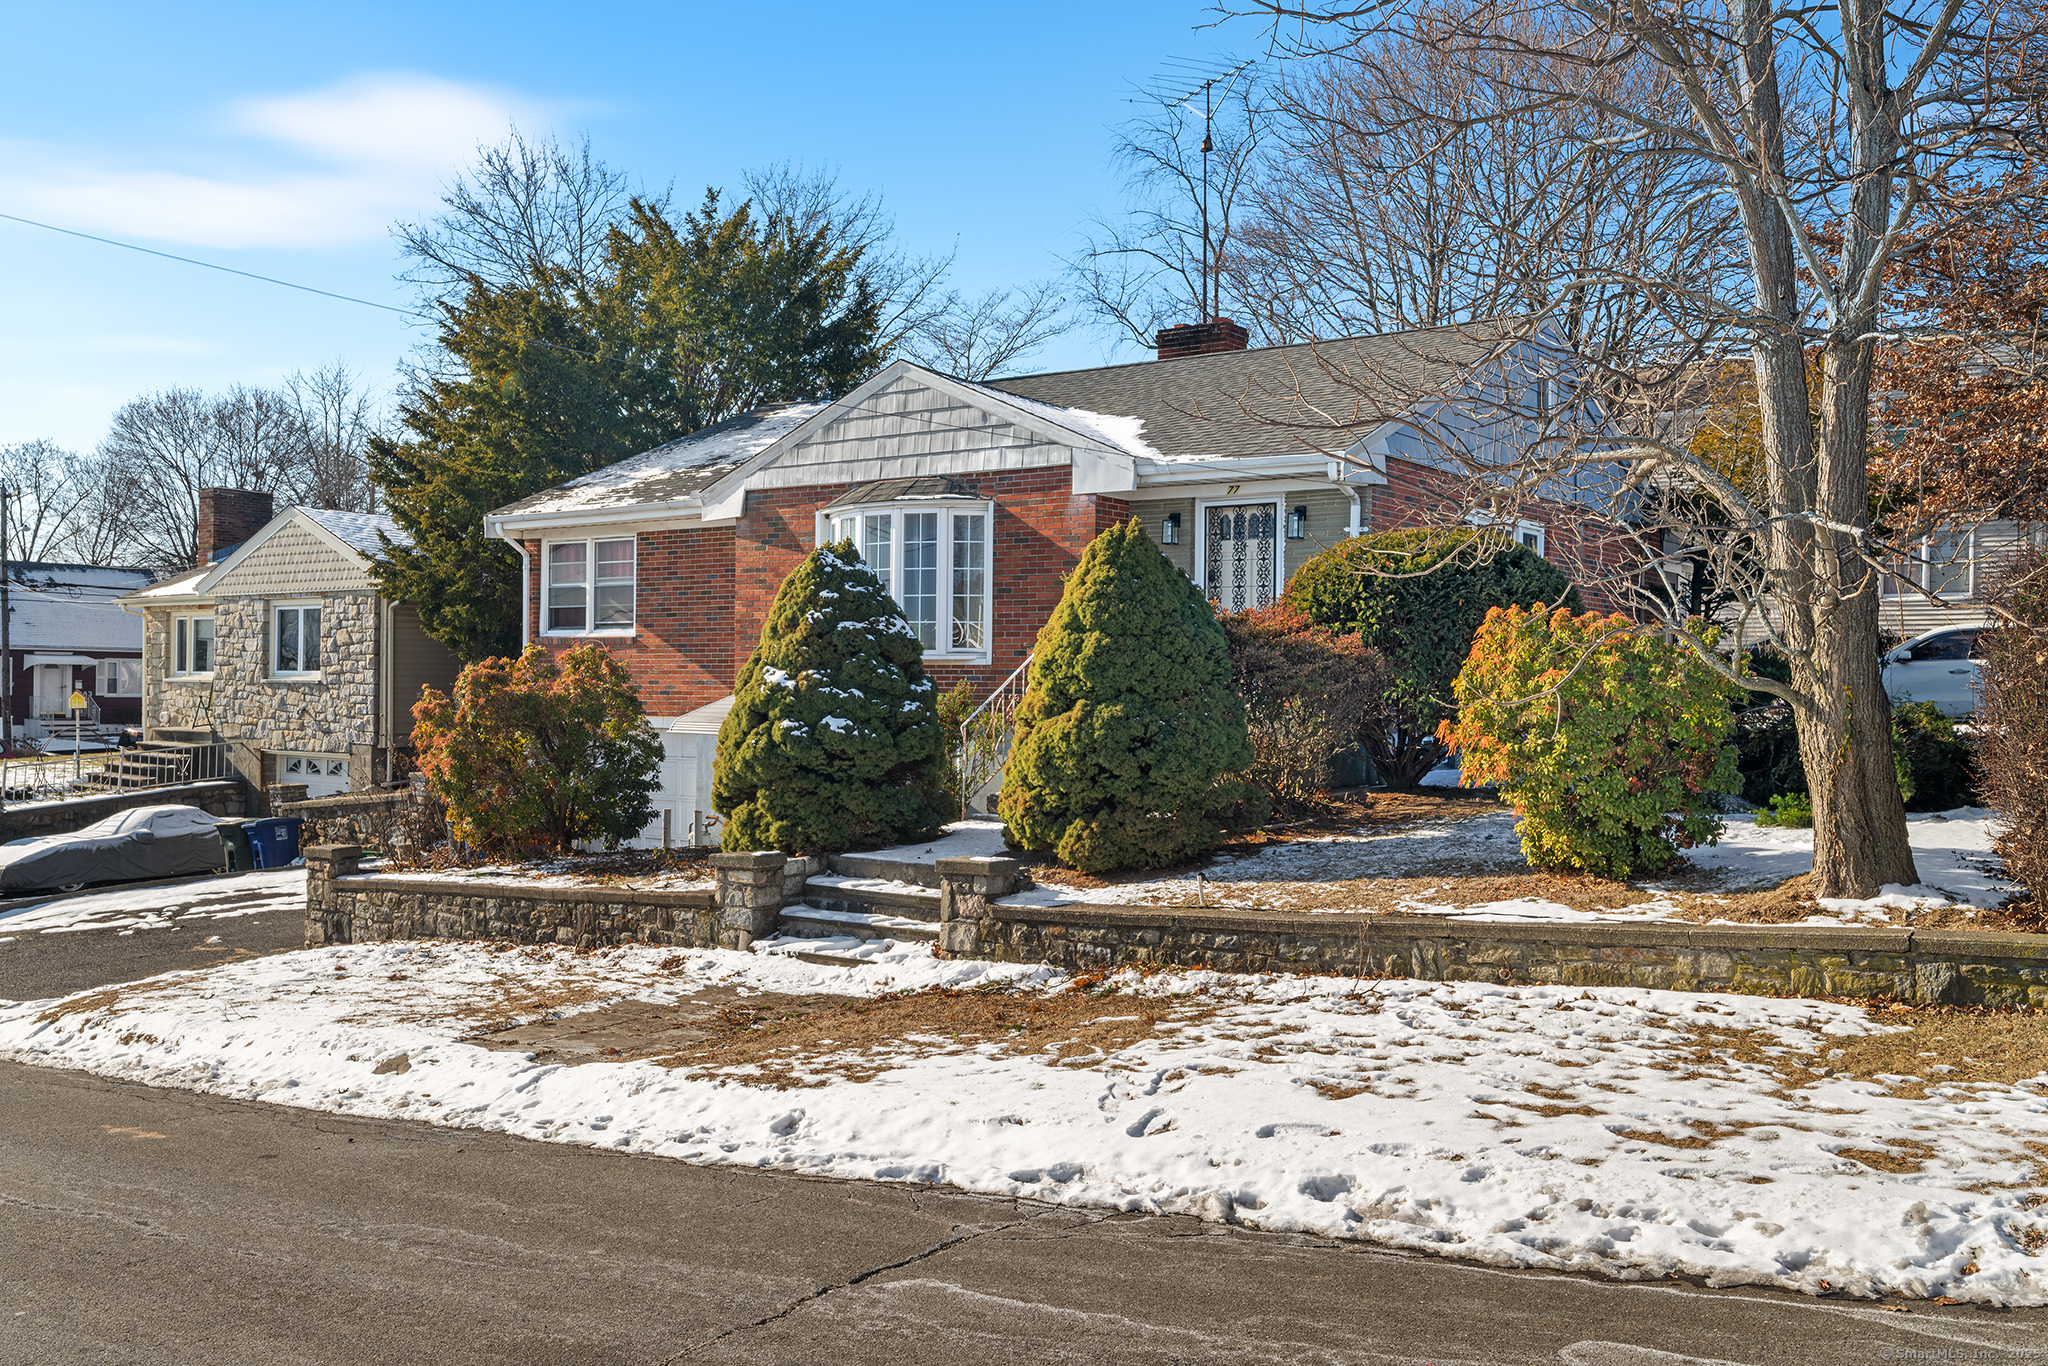
POLYGON ((514 944, 657 944, 739 948, 774 930, 784 895, 801 893, 819 858, 713 854, 705 891, 537 887, 360 874, 352 844, 305 848, 305 944, 510 940, 514 944), (791 887, 793 883, 793 887, 791 887))

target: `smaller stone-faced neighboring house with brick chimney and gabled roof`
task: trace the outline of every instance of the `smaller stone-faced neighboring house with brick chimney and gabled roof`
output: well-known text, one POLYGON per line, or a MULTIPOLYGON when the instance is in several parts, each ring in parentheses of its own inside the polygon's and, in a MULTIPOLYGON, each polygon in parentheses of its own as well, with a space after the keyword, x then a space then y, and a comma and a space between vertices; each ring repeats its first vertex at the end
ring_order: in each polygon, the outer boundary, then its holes
POLYGON ((203 489, 205 567, 121 598, 143 618, 145 739, 227 743, 250 784, 311 795, 393 780, 422 684, 446 690, 461 661, 418 612, 379 596, 371 561, 387 516, 287 508, 203 489))

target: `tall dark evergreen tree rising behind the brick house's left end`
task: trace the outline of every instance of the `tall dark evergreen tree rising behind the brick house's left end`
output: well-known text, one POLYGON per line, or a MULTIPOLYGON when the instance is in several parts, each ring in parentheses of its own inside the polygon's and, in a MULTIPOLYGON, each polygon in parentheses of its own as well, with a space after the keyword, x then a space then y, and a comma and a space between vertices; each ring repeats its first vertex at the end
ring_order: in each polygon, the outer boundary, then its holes
POLYGON ((483 514, 764 403, 844 393, 881 365, 860 248, 717 193, 670 223, 635 203, 594 274, 532 264, 442 305, 446 365, 373 438, 371 475, 410 547, 379 588, 465 659, 518 647, 518 557, 483 514))

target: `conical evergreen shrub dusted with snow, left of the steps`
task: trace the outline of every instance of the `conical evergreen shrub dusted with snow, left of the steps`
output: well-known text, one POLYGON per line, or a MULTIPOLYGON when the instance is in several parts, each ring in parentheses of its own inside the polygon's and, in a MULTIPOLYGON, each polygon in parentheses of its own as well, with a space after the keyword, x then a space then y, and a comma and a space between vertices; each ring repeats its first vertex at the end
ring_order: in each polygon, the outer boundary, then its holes
POLYGON ((719 727, 727 850, 883 848, 948 819, 924 645, 852 541, 782 580, 719 727))

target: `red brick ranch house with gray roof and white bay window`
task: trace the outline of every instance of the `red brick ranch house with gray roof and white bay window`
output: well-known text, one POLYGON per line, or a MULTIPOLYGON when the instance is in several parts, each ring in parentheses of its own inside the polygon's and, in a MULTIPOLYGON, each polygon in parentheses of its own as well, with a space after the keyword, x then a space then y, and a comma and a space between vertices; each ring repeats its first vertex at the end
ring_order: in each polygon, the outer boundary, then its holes
MULTIPOLYGON (((731 418, 485 526, 520 553, 524 641, 596 641, 631 670, 670 754, 657 803, 684 842, 711 815, 733 676, 782 578, 821 541, 852 537, 924 637, 934 680, 981 696, 1026 664, 1063 575, 1114 522, 1143 518, 1233 610, 1276 600, 1327 545, 1440 518, 1452 461, 1432 442, 1458 395, 1540 414, 1569 393, 1569 358, 1511 338, 1511 324, 1475 324, 1249 350, 1243 328, 1214 319, 1161 332, 1157 360, 1090 371, 969 383, 897 360, 846 397, 731 418), (1341 371, 1415 391, 1423 375, 1436 397, 1346 422, 1329 414, 1362 401, 1341 371)), ((1511 459, 1536 434, 1475 418, 1454 436, 1511 459)), ((1565 512, 1524 504, 1518 541, 1552 549, 1565 512)), ((657 819, 643 840, 659 836, 657 819)))

